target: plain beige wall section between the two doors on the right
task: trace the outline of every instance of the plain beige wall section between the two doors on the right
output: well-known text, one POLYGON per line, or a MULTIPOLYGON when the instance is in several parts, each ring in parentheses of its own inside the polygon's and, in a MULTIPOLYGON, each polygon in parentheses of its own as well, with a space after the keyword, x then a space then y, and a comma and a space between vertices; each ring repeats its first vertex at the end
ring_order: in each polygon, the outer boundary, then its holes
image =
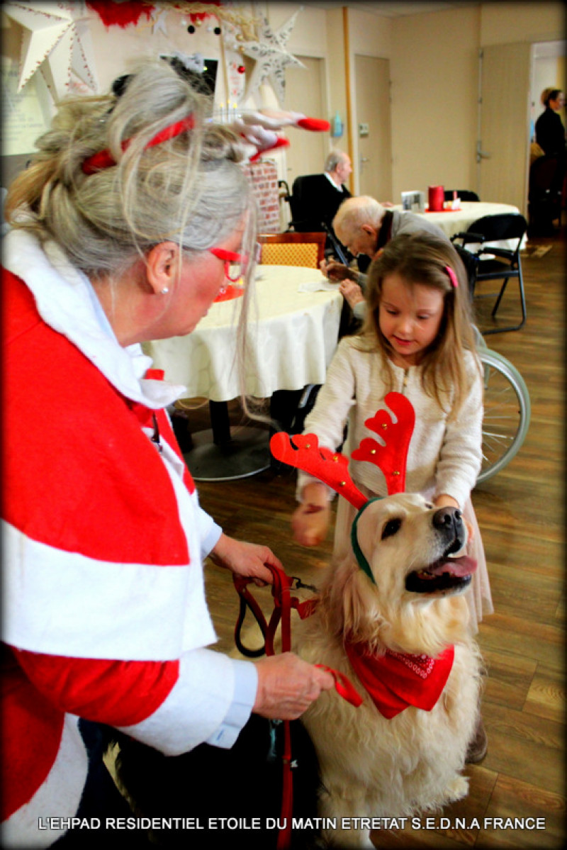
POLYGON ((475 189, 479 8, 394 20, 394 201, 404 190, 475 189))

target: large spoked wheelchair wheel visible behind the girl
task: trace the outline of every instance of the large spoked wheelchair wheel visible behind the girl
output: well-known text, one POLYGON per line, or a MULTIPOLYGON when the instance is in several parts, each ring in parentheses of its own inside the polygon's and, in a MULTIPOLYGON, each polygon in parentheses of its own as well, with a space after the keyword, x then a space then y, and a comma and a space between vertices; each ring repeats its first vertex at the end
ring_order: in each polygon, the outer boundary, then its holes
POLYGON ((480 348, 484 371, 482 468, 477 484, 499 473, 518 453, 530 426, 530 394, 519 371, 490 348, 480 348))

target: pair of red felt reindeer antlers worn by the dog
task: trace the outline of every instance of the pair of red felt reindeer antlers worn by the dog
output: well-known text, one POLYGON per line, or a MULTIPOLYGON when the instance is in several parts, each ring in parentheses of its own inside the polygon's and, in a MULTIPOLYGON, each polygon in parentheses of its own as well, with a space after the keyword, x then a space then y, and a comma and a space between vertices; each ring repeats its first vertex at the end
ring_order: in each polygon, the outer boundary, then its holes
MULTIPOLYGON (((378 410, 375 416, 365 422, 366 428, 380 435, 384 445, 376 439, 363 439, 359 448, 353 451, 352 457, 355 461, 368 461, 382 469, 388 495, 392 495, 402 493, 405 489, 405 463, 416 415, 405 395, 388 393, 384 401, 394 412, 396 421, 394 422, 388 411, 378 410)), ((360 510, 368 501, 350 478, 348 457, 337 451, 320 448, 314 433, 290 437, 280 431, 274 434, 269 447, 276 460, 315 475, 315 478, 337 490, 337 493, 357 509, 360 510)))

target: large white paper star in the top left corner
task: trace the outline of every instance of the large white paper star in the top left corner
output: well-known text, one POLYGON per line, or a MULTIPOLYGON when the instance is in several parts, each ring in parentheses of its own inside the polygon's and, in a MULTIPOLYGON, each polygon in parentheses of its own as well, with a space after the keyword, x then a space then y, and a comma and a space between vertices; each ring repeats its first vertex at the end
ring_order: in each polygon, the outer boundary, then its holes
POLYGON ((22 28, 18 91, 39 69, 55 99, 69 94, 73 77, 98 90, 86 17, 74 3, 7 3, 3 12, 22 28))

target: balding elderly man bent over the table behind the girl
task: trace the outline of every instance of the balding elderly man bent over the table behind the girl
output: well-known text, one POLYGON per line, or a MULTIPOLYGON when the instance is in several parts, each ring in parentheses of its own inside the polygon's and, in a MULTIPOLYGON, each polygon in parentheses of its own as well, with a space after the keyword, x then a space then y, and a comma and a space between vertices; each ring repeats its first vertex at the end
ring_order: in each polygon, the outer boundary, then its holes
MULTIPOLYGON (((415 212, 399 212, 384 207, 370 195, 359 195, 343 201, 332 221, 337 238, 354 257, 366 254, 374 259, 386 242, 400 233, 417 233, 425 230, 442 239, 447 237, 432 222, 415 212)), ((354 317, 364 315, 364 286, 366 275, 349 269, 334 260, 323 261, 320 269, 329 280, 340 280, 340 290, 353 309, 354 317)))

